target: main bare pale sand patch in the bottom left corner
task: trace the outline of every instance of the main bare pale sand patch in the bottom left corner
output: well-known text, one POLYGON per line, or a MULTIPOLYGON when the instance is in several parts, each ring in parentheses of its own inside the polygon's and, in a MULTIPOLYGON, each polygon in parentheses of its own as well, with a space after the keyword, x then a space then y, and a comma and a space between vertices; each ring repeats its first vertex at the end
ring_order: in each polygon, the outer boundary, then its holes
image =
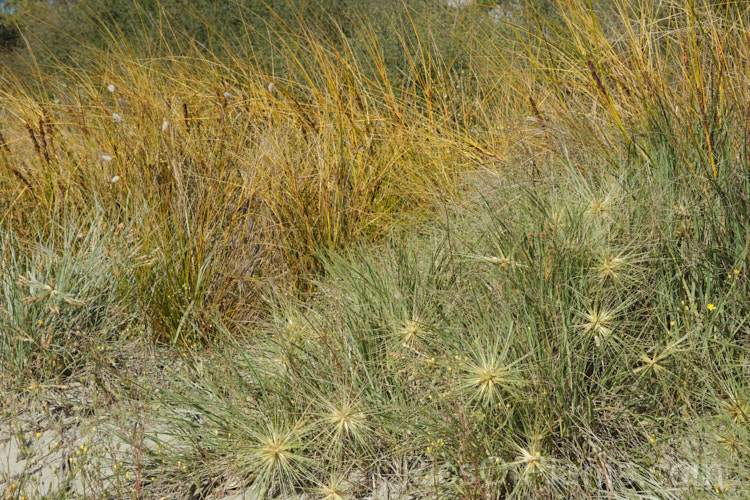
POLYGON ((112 432, 108 415, 88 409, 87 399, 79 384, 31 402, 6 395, 0 491, 29 499, 65 497, 64 492, 70 498, 102 498, 107 490, 127 487, 115 466, 129 461, 129 446, 112 432))

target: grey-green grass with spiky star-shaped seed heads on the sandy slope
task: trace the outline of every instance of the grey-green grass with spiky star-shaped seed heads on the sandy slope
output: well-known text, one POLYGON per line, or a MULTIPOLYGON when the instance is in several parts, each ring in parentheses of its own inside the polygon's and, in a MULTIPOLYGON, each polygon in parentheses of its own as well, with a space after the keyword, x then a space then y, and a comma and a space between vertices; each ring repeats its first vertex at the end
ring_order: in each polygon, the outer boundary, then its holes
MULTIPOLYGON (((746 282, 733 276, 744 276, 746 248, 718 228, 686 237, 665 230, 675 197, 700 199, 685 175, 655 182, 624 166, 618 181, 602 182, 569 165, 543 183, 519 174, 485 185, 473 206, 451 215, 450 244, 433 228, 377 254, 331 257, 319 291, 307 303, 283 302, 277 314, 290 321, 269 325, 247 357, 230 354, 238 378, 217 384, 237 401, 252 394, 256 411, 283 408, 321 429, 300 434, 306 465, 291 482, 276 476, 276 487, 343 473, 366 488, 367 478, 395 481, 395 462, 409 456, 409 488, 425 495, 677 498, 710 495, 716 484, 741 495, 748 485, 738 457, 750 448, 746 384, 734 374, 745 370, 748 311, 735 302, 746 282), (612 205, 617 216, 597 218, 580 192, 608 196, 613 182, 631 194, 612 205), (519 185, 524 194, 508 202, 519 185), (710 239, 710 253, 664 251, 693 238, 710 239), (628 265, 618 279, 601 268, 613 248, 637 256, 620 257, 628 265), (500 254, 513 265, 498 265, 500 254), (411 317, 420 322, 403 319, 411 317), (429 329, 417 336, 421 324, 429 329)), ((198 380, 181 404, 202 400, 198 380)), ((199 411, 218 422, 227 410, 206 403, 199 411)), ((221 458, 206 463, 235 456, 215 451, 221 458)))

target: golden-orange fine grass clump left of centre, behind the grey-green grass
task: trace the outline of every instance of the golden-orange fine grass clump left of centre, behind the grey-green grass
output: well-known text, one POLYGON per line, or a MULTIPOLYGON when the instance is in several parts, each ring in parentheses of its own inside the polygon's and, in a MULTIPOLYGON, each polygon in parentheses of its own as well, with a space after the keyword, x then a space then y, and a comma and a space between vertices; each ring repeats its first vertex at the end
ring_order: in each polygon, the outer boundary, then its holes
MULTIPOLYGON (((190 345, 214 331, 205 315, 252 320, 264 287, 302 285, 319 252, 456 191, 465 166, 436 133, 447 111, 394 92, 375 40, 369 61, 312 28, 282 42, 288 74, 198 48, 141 61, 123 45, 91 49, 99 63, 41 94, 5 75, 0 158, 17 196, 4 208, 41 224, 100 200, 134 227, 133 302, 156 337, 190 345)), ((441 64, 423 63, 414 75, 441 64)))

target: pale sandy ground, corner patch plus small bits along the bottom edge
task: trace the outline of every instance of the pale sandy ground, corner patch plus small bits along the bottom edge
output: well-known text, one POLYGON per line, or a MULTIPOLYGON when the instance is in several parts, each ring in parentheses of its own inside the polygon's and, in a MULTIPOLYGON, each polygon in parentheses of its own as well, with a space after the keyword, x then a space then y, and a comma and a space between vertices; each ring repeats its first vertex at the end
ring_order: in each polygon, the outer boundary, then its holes
MULTIPOLYGON (((0 498, 186 498, 239 500, 256 498, 236 481, 200 492, 176 493, 174 485, 146 489, 136 484, 153 478, 142 477, 134 460, 137 450, 128 434, 137 429, 139 419, 126 404, 92 406, 91 391, 80 384, 65 390, 48 390, 44 397, 0 397, 0 498)), ((24 395, 25 396, 25 395, 24 395)), ((167 434, 154 433, 162 441, 167 434)), ((145 442, 153 446, 153 442, 145 442)), ((370 500, 411 499, 408 487, 398 478, 379 481, 370 493, 357 498, 370 500)), ((277 497, 281 498, 281 497, 277 497)), ((294 499, 320 498, 300 494, 294 499)), ((355 497, 352 497, 355 498, 355 497)))

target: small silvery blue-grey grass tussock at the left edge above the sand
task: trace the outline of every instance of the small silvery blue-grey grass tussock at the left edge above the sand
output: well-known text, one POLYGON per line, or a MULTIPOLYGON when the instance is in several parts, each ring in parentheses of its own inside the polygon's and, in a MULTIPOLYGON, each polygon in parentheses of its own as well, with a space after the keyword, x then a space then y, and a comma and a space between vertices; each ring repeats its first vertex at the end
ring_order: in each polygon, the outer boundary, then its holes
POLYGON ((53 225, 46 234, 9 228, 0 261, 2 373, 16 383, 68 376, 128 320, 118 299, 125 238, 99 217, 53 225), (29 238, 29 236, 31 236, 29 238))

